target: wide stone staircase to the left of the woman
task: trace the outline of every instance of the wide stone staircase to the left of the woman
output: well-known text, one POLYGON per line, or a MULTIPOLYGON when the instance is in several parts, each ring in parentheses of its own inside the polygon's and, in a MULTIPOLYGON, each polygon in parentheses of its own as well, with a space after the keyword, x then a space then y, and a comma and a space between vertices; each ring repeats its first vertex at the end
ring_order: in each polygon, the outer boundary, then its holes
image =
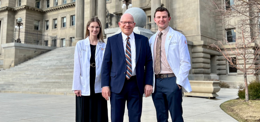
POLYGON ((75 47, 56 48, 0 71, 0 92, 75 95, 72 89, 75 47))

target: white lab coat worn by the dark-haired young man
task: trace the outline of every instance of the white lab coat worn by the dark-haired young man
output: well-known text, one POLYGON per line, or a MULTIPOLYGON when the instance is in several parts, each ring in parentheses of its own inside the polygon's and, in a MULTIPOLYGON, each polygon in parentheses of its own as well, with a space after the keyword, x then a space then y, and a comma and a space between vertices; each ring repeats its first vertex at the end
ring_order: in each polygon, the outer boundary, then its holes
MULTIPOLYGON (((149 39, 153 62, 154 62, 154 41, 157 33, 154 34, 149 39)), ((171 69, 173 70, 173 73, 176 75, 176 83, 181 85, 186 91, 191 92, 191 85, 188 79, 188 74, 191 69, 191 59, 190 59, 187 40, 185 36, 173 30, 170 27, 168 34, 166 36, 164 46, 165 46, 167 61, 171 69)), ((154 85, 155 85, 155 77, 153 82, 153 92, 154 92, 154 85)))

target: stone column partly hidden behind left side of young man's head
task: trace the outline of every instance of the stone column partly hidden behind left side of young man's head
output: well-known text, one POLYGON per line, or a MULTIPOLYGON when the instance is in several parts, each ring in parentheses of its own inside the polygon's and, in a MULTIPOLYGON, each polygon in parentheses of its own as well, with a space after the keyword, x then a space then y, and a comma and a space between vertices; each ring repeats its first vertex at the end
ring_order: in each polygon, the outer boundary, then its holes
MULTIPOLYGON (((158 7, 161 7, 161 0, 151 0, 151 17, 153 18, 154 17, 154 12, 155 10, 158 8, 158 7)), ((153 19, 152 19, 153 20, 153 19)), ((151 23, 151 31, 154 31, 156 32, 158 30, 157 28, 157 25, 155 24, 154 21, 152 21, 151 23)))

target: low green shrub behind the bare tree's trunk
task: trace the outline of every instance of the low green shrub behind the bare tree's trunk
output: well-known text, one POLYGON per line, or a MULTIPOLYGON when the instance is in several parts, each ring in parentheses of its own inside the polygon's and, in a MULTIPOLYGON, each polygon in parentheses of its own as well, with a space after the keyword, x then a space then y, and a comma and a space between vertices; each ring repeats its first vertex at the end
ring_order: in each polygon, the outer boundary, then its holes
MULTIPOLYGON (((245 88, 239 89, 237 95, 240 99, 245 99, 245 88)), ((248 97, 252 99, 260 99, 260 82, 253 80, 248 84, 248 97)))

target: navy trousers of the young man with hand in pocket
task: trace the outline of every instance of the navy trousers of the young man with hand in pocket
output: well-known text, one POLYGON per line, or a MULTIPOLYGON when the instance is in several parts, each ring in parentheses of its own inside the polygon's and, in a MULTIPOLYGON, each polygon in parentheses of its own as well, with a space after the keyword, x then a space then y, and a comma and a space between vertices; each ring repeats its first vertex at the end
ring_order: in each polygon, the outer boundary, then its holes
POLYGON ((173 122, 184 122, 181 105, 182 90, 176 84, 176 77, 155 78, 152 98, 158 122, 168 122, 169 111, 173 122))

